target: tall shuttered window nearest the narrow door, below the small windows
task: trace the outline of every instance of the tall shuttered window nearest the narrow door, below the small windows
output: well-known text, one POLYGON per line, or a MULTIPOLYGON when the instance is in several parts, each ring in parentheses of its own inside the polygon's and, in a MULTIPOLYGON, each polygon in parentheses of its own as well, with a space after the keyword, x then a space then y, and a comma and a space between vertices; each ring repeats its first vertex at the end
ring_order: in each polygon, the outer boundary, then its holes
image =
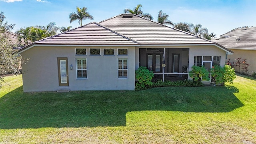
POLYGON ((76 78, 86 79, 87 78, 87 62, 86 58, 76 59, 76 78))

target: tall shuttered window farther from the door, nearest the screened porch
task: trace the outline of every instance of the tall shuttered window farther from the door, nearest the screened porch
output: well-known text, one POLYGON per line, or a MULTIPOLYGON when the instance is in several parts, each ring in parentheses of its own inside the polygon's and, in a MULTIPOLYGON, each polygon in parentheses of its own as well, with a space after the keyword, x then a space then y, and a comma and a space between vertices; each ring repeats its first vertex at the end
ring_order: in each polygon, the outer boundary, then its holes
POLYGON ((128 78, 128 58, 118 58, 118 78, 128 78))

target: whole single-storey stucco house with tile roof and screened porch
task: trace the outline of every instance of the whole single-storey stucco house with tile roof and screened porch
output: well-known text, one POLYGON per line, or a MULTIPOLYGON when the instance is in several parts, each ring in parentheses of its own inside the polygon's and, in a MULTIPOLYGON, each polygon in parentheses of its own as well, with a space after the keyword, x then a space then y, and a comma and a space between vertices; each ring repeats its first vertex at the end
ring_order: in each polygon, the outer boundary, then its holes
POLYGON ((188 78, 195 65, 225 64, 231 50, 134 14, 36 41, 19 52, 24 92, 134 90, 135 70, 146 66, 160 80, 188 78))

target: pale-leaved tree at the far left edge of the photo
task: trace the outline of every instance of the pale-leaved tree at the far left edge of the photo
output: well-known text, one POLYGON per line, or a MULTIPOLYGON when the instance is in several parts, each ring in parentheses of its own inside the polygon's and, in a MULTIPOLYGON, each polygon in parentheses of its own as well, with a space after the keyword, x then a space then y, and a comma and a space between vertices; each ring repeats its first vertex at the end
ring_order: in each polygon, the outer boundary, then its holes
MULTIPOLYGON (((6 72, 18 73, 18 64, 21 62, 21 56, 16 55, 16 50, 13 49, 15 44, 10 43, 9 33, 14 28, 15 24, 4 22, 4 12, 0 12, 0 74, 6 72)), ((0 88, 4 82, 3 76, 0 76, 0 88)))

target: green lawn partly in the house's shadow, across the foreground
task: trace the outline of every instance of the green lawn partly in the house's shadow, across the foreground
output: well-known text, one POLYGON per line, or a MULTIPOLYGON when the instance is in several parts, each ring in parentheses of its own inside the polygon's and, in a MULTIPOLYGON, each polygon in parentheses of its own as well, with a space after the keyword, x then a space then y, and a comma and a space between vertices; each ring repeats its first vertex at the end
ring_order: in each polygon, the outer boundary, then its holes
POLYGON ((0 91, 0 143, 256 143, 256 80, 142 91, 0 91))

